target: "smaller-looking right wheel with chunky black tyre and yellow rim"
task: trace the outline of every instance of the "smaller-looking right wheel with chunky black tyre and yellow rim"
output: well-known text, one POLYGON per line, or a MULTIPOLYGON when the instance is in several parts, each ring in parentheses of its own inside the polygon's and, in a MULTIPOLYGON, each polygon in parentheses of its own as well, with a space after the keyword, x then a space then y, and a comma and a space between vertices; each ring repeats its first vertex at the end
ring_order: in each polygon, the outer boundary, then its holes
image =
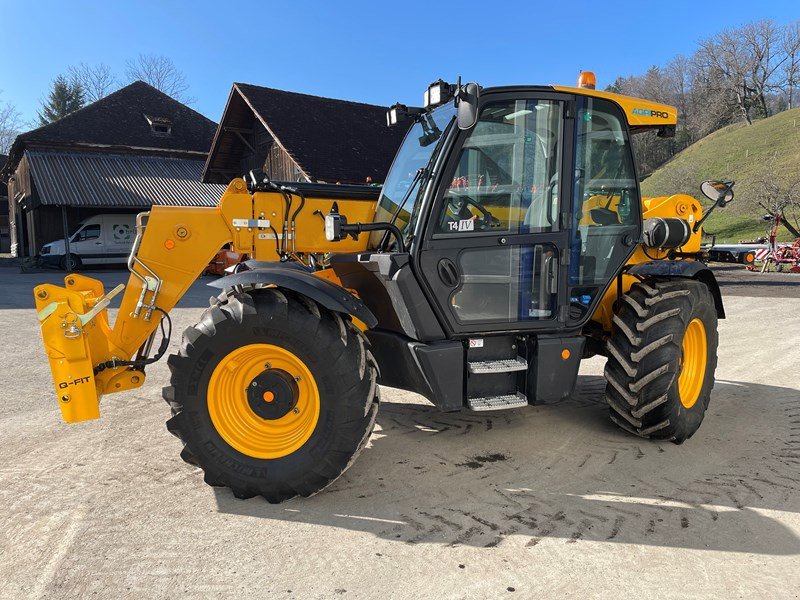
POLYGON ((634 284, 613 321, 605 369, 611 419, 641 437, 689 439, 708 408, 717 366, 708 287, 678 278, 634 284))

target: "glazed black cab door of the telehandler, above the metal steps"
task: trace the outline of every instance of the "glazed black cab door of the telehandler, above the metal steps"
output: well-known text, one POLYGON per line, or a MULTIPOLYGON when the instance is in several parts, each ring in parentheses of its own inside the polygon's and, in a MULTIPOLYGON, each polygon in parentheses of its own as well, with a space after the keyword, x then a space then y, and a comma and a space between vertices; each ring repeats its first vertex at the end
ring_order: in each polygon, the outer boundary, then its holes
POLYGON ((437 183, 418 255, 452 334, 565 326, 572 96, 484 96, 437 183))

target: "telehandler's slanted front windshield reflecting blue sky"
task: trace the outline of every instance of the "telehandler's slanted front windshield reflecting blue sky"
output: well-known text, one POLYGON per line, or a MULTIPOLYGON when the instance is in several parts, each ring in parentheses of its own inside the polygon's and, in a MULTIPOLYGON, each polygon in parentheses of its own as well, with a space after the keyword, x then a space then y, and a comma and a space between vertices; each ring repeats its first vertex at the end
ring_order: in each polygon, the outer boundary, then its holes
MULTIPOLYGON (((421 115, 421 120, 414 123, 406 135, 383 184, 375 221, 391 221, 397 214, 395 225, 406 239, 413 230, 413 221, 419 212, 420 190, 429 175, 420 175, 419 170, 428 166, 455 113, 451 103, 421 115)), ((370 240, 372 247, 383 237, 383 232, 376 233, 370 240)))

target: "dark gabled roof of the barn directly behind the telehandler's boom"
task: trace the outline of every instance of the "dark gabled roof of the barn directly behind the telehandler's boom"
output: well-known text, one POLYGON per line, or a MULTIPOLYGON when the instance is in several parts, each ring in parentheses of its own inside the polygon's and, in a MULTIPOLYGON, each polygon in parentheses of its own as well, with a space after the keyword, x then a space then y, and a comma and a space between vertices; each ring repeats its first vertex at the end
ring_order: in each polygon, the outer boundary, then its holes
POLYGON ((381 182, 405 135, 386 125, 386 108, 234 83, 206 162, 203 181, 238 174, 241 129, 253 116, 312 181, 381 182))

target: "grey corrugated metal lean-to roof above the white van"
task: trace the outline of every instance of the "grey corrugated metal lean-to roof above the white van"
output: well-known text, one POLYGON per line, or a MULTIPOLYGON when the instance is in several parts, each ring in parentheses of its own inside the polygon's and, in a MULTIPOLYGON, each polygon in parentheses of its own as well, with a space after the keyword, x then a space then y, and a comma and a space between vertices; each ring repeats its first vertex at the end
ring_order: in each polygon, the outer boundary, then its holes
POLYGON ((142 208, 216 206, 224 185, 200 183, 203 161, 26 150, 42 204, 142 208))

